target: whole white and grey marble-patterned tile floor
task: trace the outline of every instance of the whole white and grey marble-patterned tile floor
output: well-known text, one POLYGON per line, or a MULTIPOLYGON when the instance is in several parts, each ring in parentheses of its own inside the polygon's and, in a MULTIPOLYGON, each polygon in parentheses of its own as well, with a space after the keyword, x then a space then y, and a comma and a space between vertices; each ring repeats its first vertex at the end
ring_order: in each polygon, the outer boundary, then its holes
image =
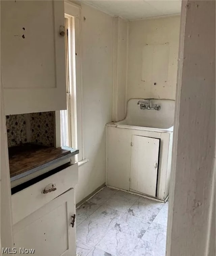
POLYGON ((168 202, 105 187, 76 215, 77 256, 165 256, 168 202))

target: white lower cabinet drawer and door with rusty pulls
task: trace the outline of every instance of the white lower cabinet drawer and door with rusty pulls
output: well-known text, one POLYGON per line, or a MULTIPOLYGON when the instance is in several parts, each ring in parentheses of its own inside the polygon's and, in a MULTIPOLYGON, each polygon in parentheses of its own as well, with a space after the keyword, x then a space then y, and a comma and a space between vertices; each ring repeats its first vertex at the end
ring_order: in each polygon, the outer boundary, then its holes
POLYGON ((12 194, 17 249, 35 249, 37 256, 76 255, 74 187, 77 183, 78 164, 68 164, 68 167, 12 194))

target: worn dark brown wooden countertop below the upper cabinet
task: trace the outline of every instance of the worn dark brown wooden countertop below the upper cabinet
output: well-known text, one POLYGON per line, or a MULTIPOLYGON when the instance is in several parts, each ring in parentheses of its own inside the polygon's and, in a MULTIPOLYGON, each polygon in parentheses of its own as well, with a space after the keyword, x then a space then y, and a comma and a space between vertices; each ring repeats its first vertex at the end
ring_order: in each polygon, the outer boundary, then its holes
POLYGON ((26 143, 22 146, 8 148, 10 178, 42 164, 71 153, 55 147, 45 147, 26 143))

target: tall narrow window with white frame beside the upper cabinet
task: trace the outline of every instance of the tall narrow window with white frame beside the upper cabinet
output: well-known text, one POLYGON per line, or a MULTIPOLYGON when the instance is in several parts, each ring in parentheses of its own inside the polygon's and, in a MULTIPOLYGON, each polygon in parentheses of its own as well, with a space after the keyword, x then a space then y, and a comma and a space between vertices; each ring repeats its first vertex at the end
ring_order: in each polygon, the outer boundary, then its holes
POLYGON ((64 10, 67 110, 56 113, 56 122, 57 124, 60 123, 60 132, 56 129, 56 144, 78 148, 80 153, 76 155, 75 161, 81 165, 88 160, 84 156, 84 135, 82 127, 83 97, 80 53, 80 6, 65 1, 64 10))

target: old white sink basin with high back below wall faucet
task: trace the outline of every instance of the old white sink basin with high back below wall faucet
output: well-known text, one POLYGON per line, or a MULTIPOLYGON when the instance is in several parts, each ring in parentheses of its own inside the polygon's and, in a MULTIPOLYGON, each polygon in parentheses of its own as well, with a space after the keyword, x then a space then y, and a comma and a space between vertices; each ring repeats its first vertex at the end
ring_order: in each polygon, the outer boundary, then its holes
POLYGON ((109 125, 126 129, 146 130, 154 132, 172 132, 174 122, 174 100, 165 99, 130 99, 127 104, 126 118, 109 125), (160 105, 160 110, 140 109, 138 100, 160 105))

